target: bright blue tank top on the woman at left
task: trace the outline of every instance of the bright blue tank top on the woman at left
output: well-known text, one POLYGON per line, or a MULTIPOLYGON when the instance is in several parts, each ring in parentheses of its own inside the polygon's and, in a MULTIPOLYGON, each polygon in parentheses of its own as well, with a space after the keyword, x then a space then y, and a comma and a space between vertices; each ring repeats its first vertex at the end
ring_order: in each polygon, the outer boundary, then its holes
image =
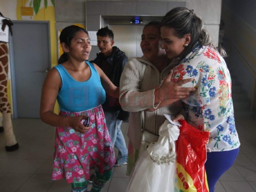
POLYGON ((62 86, 57 101, 62 111, 80 112, 98 107, 104 103, 106 93, 94 65, 86 61, 91 70, 91 77, 85 82, 76 81, 61 65, 54 68, 61 76, 62 86))

